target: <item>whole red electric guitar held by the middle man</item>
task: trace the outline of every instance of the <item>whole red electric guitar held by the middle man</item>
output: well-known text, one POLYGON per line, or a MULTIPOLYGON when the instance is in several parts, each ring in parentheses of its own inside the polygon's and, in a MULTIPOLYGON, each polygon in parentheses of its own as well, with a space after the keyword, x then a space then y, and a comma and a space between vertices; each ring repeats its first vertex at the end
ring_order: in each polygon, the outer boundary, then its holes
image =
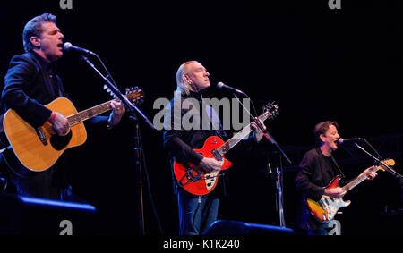
MULTIPOLYGON (((259 116, 259 119, 264 122, 266 119, 274 118, 279 111, 279 107, 273 103, 263 107, 263 114, 259 116)), ((236 146, 236 144, 247 137, 252 131, 251 124, 244 127, 242 131, 239 131, 233 138, 228 139, 224 143, 222 139, 217 136, 211 136, 204 142, 204 146, 201 149, 193 149, 195 152, 201 154, 201 156, 208 158, 215 158, 218 161, 224 161, 219 172, 216 173, 204 173, 199 166, 194 166, 191 163, 180 164, 174 162, 174 173, 178 184, 192 193, 193 195, 206 195, 217 185, 219 173, 221 170, 226 170, 232 166, 224 155, 236 146)))

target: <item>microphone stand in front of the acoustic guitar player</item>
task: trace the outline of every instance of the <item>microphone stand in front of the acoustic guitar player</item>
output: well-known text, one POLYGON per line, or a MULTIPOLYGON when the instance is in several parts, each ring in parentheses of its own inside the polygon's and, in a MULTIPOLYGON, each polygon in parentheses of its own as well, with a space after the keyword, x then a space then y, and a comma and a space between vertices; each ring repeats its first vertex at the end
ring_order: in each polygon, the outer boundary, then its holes
MULTIPOLYGON (((156 128, 154 127, 154 125, 150 122, 150 120, 141 113, 140 109, 137 108, 136 105, 133 105, 133 103, 131 101, 129 101, 126 97, 124 97, 124 95, 119 91, 119 89, 117 89, 117 87, 112 84, 110 82, 110 80, 107 79, 107 77, 105 77, 101 72, 99 72, 99 70, 94 66, 93 63, 90 62, 90 60, 84 56, 81 55, 81 59, 88 63, 90 65, 90 67, 99 74, 99 76, 106 81, 106 85, 107 88, 110 89, 115 95, 116 97, 118 97, 120 99, 120 101, 122 101, 124 103, 124 105, 126 106, 126 108, 128 108, 130 110, 130 112, 133 114, 133 117, 131 117, 134 122, 135 122, 135 148, 134 148, 134 156, 136 159, 136 181, 137 181, 137 187, 138 187, 138 194, 139 194, 139 200, 138 200, 138 212, 139 212, 139 223, 140 223, 140 234, 144 235, 145 234, 145 225, 144 225, 144 205, 143 205, 143 190, 142 190, 142 166, 141 166, 141 159, 143 160, 143 148, 142 148, 142 143, 141 143, 141 136, 140 136, 140 129, 139 129, 139 123, 138 123, 138 118, 140 117, 141 120, 143 122, 146 122, 150 128, 152 130, 156 130, 156 128)), ((145 164, 143 164, 145 166, 145 164)))

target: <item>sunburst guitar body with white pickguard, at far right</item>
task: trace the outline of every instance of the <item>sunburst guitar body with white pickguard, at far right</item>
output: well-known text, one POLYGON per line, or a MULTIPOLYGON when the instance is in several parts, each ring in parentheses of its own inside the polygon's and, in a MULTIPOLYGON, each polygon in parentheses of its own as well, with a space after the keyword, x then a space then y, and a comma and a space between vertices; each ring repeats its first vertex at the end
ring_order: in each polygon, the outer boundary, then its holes
MULTIPOLYGON (((334 189, 339 187, 340 176, 337 176, 332 181, 328 187, 325 189, 334 189)), ((329 222, 338 213, 339 208, 347 207, 351 204, 351 201, 344 201, 343 198, 330 198, 328 196, 322 196, 319 201, 314 201, 311 198, 307 198, 305 201, 311 214, 320 223, 329 222)))

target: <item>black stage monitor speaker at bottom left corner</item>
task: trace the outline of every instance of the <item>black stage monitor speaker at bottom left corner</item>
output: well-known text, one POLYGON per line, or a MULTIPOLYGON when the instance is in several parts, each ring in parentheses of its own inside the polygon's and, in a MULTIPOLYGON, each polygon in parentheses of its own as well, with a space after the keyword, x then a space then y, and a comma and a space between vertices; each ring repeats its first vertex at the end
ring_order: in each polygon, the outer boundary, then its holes
POLYGON ((0 234, 92 235, 98 221, 89 204, 0 194, 0 234))

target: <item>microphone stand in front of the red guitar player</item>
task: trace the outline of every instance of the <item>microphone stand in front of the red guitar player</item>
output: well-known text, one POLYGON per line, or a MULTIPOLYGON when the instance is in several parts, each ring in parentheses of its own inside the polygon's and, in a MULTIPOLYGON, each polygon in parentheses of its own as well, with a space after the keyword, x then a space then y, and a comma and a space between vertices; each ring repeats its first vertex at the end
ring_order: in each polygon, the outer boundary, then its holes
MULTIPOLYGON (((253 120, 253 122, 256 123, 256 125, 262 130, 262 132, 264 133, 264 137, 266 137, 267 139, 269 139, 269 141, 271 142, 271 144, 273 144, 274 146, 276 146, 276 148, 279 149, 279 152, 281 153, 282 156, 284 156, 284 158, 286 158, 287 163, 291 164, 291 161, 288 159, 286 153, 284 153, 283 149, 279 147, 279 144, 277 143, 277 141, 270 135, 270 132, 267 131, 267 129, 265 129, 261 122, 258 121, 256 119, 256 117, 253 117, 253 115, 249 112, 249 110, 244 106, 244 104, 241 103, 241 100, 239 100, 239 98, 236 96, 236 93, 234 92, 234 97, 236 97, 236 100, 238 101, 238 103, 240 105, 242 105, 244 107, 244 110, 246 111, 246 113, 249 114, 249 116, 251 117, 251 119, 253 120)), ((244 93, 243 93, 244 94, 244 93)), ((244 94, 246 97, 248 97, 246 94, 244 94)), ((250 99, 250 98, 249 98, 250 99)), ((251 99, 252 100, 252 99, 251 99)), ((279 156, 279 161, 280 161, 280 170, 278 168, 276 168, 277 171, 277 175, 276 175, 276 189, 277 191, 277 201, 278 201, 278 211, 279 211, 279 223, 281 227, 285 227, 286 226, 286 222, 284 220, 284 198, 283 198, 283 165, 281 163, 281 156, 279 156)))

